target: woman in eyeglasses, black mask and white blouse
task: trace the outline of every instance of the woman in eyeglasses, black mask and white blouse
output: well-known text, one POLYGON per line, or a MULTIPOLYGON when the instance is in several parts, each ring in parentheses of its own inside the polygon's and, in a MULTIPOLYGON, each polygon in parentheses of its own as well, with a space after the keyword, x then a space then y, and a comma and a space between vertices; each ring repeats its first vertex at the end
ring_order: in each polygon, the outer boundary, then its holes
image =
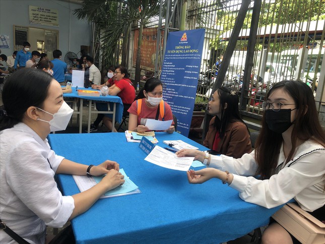
MULTIPOLYGON (((311 89, 301 81, 275 84, 263 102, 262 131, 255 150, 239 159, 198 150, 180 150, 207 168, 187 172, 191 184, 219 178, 246 202, 273 208, 295 199, 317 219, 325 220, 325 133, 321 129, 311 89)), ((295 243, 273 221, 262 243, 295 243)))

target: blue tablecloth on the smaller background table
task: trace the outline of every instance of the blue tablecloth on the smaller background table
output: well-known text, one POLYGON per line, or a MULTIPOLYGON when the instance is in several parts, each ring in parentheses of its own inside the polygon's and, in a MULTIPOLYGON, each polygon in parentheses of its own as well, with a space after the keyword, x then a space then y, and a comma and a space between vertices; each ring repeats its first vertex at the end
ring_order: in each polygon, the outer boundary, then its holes
MULTIPOLYGON (((78 88, 79 89, 79 88, 78 88)), ((91 88, 80 88, 81 90, 93 90, 91 88)), ((64 93, 63 97, 71 97, 71 98, 82 98, 92 101, 103 101, 103 102, 115 102, 116 103, 116 111, 115 111, 115 121, 121 123, 122 115, 123 115, 123 103, 119 96, 79 96, 78 91, 75 87, 72 88, 72 93, 64 93)))

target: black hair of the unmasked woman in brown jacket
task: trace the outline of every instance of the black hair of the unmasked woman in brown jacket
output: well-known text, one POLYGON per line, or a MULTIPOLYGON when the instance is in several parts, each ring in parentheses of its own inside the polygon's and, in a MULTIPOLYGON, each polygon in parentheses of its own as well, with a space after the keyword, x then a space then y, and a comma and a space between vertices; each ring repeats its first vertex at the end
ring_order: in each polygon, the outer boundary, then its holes
MULTIPOLYGON (((239 114, 239 98, 238 98, 238 91, 231 89, 230 87, 222 87, 217 89, 219 98, 220 98, 220 118, 216 116, 215 119, 215 128, 219 132, 220 138, 223 138, 227 129, 227 126, 230 122, 240 121, 242 122, 246 128, 247 125, 241 119, 239 114), (225 108, 225 104, 227 103, 227 107, 225 108)), ((249 130, 247 128, 249 133, 249 130)))

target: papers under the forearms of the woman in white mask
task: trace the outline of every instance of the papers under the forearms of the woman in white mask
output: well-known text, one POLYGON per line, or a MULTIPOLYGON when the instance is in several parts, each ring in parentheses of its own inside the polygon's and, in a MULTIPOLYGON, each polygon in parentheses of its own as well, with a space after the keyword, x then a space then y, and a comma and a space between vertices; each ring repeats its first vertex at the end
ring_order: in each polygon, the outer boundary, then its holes
MULTIPOLYGON (((124 196, 124 195, 131 195, 131 194, 141 193, 141 191, 134 184, 134 182, 127 177, 127 175, 126 175, 126 173, 124 172, 123 169, 120 169, 119 172, 121 172, 124 175, 124 179, 125 179, 124 184, 122 186, 120 186, 120 187, 117 187, 117 188, 115 188, 115 189, 113 189, 111 191, 106 192, 100 198, 111 198, 111 197, 118 197, 118 196, 124 196)), ((92 177, 88 177, 88 176, 85 176, 85 175, 73 175, 73 178, 76 181, 76 184, 77 184, 80 192, 84 192, 84 191, 92 188, 103 177, 104 176, 92 176, 92 177)))

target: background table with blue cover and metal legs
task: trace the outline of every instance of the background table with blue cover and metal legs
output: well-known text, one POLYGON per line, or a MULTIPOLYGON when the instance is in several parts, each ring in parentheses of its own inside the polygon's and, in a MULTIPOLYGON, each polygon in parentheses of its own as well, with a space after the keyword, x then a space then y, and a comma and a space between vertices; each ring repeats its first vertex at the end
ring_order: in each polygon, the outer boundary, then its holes
MULTIPOLYGON (((80 88, 82 90, 93 90, 91 88, 80 88)), ((75 87, 72 88, 72 93, 63 93, 64 98, 75 98, 80 100, 80 111, 77 111, 76 113, 80 114, 80 120, 79 120, 79 133, 82 132, 82 116, 83 116, 83 100, 86 99, 89 101, 89 113, 88 113, 88 133, 90 133, 90 124, 91 124, 91 114, 92 113, 110 113, 113 115, 113 125, 115 124, 115 121, 118 123, 121 123, 122 115, 123 115, 123 103, 119 96, 79 96, 78 91, 75 87), (96 111, 92 110, 92 101, 100 101, 100 102, 106 102, 107 104, 113 103, 112 109, 110 111, 96 111)))

